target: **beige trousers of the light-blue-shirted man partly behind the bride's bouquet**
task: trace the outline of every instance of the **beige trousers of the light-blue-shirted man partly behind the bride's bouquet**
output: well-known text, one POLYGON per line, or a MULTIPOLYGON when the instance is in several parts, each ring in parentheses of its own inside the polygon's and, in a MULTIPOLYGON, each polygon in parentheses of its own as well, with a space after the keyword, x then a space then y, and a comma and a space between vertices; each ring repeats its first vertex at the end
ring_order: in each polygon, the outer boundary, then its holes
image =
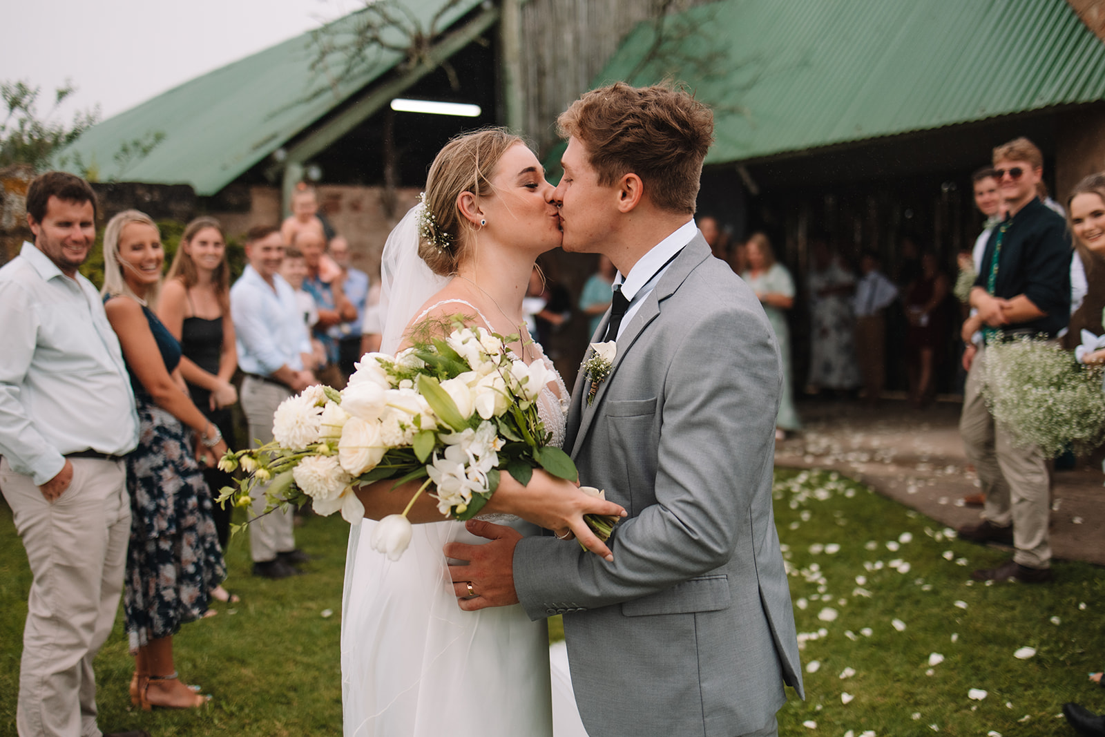
MULTIPOLYGON (((273 439, 273 413, 285 399, 292 396, 291 389, 278 387, 269 381, 261 381, 251 376, 242 380, 242 412, 250 425, 250 448, 257 448, 273 439), (260 441, 260 443, 259 443, 260 441)), ((265 510, 265 489, 267 485, 253 488, 253 514, 265 510)), ((250 556, 254 562, 265 562, 276 558, 277 552, 295 549, 295 519, 291 509, 273 512, 249 524, 250 556)))

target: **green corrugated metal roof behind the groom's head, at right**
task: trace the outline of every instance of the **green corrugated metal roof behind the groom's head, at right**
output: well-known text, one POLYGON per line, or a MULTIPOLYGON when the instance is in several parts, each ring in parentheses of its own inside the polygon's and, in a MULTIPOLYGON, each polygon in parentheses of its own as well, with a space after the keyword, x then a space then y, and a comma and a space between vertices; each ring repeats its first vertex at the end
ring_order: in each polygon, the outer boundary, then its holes
POLYGON ((1105 44, 1064 0, 723 0, 665 25, 596 86, 687 82, 715 107, 707 164, 1105 98, 1105 44))

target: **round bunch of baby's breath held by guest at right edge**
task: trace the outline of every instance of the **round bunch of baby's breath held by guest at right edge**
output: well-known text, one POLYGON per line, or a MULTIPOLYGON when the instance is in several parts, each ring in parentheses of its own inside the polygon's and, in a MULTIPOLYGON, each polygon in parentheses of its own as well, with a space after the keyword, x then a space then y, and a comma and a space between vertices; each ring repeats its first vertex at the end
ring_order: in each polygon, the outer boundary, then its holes
POLYGON ((1101 366, 1028 337, 988 344, 983 360, 987 407, 1018 445, 1053 457, 1067 448, 1084 455, 1105 440, 1101 366))

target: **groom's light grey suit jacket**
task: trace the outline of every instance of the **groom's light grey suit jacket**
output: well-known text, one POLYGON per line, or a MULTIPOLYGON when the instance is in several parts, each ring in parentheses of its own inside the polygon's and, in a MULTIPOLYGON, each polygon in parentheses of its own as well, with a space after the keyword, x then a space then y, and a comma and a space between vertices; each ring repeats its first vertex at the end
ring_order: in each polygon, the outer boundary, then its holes
POLYGON ((514 579, 530 618, 565 615, 591 735, 733 737, 769 722, 783 683, 802 694, 771 510, 781 376, 756 296, 696 235, 625 326, 591 406, 576 382, 580 478, 629 516, 612 564, 529 537, 514 579))

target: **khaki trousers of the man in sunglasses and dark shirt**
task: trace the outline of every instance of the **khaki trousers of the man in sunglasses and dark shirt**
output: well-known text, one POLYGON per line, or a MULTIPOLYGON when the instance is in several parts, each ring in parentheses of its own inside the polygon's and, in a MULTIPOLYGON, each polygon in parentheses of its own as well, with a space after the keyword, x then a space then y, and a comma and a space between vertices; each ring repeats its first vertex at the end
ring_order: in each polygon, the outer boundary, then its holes
POLYGON ((978 471, 986 495, 982 516, 999 527, 1013 526, 1017 548, 1013 560, 1022 566, 1048 568, 1051 565, 1048 460, 1039 446, 1013 445, 1009 431, 993 421, 982 399, 985 360, 986 348, 979 348, 967 372, 959 417, 964 450, 978 471))

